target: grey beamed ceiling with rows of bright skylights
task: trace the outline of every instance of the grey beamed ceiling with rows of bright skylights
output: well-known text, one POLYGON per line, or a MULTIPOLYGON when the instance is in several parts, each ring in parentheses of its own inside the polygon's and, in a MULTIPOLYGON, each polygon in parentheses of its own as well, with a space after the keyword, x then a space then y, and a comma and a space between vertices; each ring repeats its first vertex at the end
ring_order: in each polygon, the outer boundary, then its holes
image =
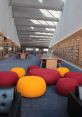
POLYGON ((58 24, 63 0, 11 0, 19 41, 48 47, 58 24))

